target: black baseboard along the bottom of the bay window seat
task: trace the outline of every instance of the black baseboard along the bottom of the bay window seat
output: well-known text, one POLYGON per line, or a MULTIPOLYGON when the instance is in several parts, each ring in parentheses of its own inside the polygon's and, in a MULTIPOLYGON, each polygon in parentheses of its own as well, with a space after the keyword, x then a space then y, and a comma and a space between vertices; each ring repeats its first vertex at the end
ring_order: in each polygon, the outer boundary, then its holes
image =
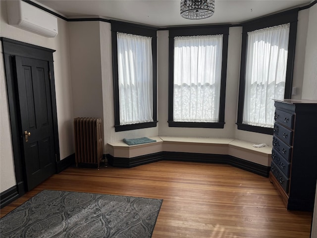
POLYGON ((184 162, 200 162, 213 164, 227 164, 233 167, 252 172, 257 175, 268 178, 270 167, 259 165, 247 160, 243 160, 230 155, 202 154, 202 153, 186 153, 186 152, 158 152, 133 158, 113 157, 106 155, 108 164, 113 167, 132 168, 139 165, 149 164, 161 160, 184 161, 184 162))

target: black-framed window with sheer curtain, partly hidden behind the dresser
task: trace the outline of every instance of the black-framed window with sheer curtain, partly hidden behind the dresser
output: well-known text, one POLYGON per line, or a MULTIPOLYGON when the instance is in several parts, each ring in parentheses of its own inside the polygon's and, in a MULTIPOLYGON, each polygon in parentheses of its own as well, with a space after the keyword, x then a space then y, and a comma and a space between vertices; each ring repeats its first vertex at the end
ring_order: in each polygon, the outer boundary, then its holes
MULTIPOLYGON (((295 15, 297 20, 297 12, 292 17, 295 15)), ((290 98, 295 49, 295 39, 290 40, 290 37, 294 36, 296 25, 290 22, 287 14, 278 18, 279 21, 283 19, 279 25, 275 25, 276 17, 270 19, 261 22, 273 26, 259 28, 261 26, 251 24, 243 27, 237 123, 238 129, 266 134, 273 134, 273 99, 290 98)))

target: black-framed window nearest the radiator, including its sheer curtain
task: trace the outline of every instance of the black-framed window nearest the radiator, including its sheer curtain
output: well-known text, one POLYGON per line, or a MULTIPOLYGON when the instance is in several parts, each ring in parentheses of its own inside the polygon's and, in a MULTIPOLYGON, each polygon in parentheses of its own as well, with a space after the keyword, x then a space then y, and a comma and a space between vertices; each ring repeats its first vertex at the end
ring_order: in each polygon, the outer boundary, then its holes
POLYGON ((155 127, 156 30, 117 22, 111 30, 115 131, 155 127))

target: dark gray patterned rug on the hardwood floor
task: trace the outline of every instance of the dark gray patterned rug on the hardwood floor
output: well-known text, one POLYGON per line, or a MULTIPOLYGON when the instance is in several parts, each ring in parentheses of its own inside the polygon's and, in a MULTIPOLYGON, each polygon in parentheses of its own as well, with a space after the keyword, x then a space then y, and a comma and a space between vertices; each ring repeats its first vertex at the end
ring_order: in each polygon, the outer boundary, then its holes
POLYGON ((44 190, 1 218, 1 238, 150 238, 161 199, 44 190))

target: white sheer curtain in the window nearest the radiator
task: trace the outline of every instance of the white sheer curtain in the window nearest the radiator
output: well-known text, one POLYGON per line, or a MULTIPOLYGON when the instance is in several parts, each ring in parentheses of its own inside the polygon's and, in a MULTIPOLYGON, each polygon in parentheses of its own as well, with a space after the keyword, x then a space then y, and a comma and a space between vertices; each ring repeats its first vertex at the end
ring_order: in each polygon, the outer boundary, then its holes
POLYGON ((120 125, 153 121, 152 38, 117 32, 120 125))

